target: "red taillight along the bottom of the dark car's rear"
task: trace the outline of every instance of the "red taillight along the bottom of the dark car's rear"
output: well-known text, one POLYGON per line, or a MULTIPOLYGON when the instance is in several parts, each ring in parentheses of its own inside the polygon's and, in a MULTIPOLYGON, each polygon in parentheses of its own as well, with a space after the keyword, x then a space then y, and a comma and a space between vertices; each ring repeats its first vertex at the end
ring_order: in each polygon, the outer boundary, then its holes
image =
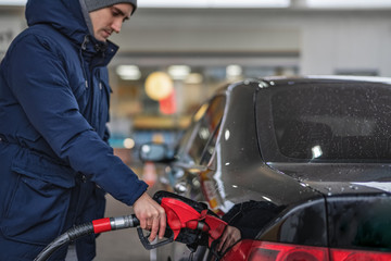
POLYGON ((224 261, 386 261, 389 252, 328 249, 279 243, 242 240, 227 252, 224 261))

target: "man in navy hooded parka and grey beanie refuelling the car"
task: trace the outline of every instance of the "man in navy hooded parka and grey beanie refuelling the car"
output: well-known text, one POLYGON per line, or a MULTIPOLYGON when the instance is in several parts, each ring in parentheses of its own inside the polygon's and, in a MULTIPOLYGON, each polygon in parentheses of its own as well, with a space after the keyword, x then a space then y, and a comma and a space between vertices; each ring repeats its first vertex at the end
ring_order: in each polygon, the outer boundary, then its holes
MULTIPOLYGON (((106 65, 137 0, 29 0, 28 28, 0 65, 0 260, 33 260, 70 227, 102 217, 104 194, 163 237, 165 213, 108 144, 106 65)), ((67 248, 52 260, 64 260, 67 248)), ((94 235, 76 241, 92 260, 94 235)))

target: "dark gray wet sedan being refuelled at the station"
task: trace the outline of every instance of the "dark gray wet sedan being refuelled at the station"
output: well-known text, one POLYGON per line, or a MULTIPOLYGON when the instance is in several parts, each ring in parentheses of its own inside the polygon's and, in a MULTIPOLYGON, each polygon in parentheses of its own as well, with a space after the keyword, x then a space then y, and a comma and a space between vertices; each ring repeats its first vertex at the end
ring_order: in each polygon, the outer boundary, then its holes
MULTIPOLYGON (((167 147, 168 148, 168 147, 167 147)), ((204 201, 240 238, 198 260, 391 260, 391 78, 298 77, 228 85, 165 162, 168 189, 204 201)), ((179 244, 157 260, 181 260, 179 244)))

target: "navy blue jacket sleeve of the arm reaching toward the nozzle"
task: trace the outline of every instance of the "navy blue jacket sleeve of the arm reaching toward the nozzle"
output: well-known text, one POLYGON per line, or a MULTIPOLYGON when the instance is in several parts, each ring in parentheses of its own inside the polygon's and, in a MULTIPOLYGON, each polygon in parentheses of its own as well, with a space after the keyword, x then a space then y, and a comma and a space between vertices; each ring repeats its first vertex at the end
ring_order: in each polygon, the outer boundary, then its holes
POLYGON ((50 39, 27 35, 14 42, 9 86, 30 124, 76 172, 131 206, 147 184, 113 154, 79 112, 62 55, 50 39))

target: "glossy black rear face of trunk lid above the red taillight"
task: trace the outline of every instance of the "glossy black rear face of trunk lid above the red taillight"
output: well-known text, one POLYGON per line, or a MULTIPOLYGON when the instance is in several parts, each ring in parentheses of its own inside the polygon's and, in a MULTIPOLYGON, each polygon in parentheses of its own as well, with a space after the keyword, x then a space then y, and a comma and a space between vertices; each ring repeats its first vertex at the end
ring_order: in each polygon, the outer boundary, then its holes
POLYGON ((329 246, 391 251, 391 196, 327 197, 329 246))

